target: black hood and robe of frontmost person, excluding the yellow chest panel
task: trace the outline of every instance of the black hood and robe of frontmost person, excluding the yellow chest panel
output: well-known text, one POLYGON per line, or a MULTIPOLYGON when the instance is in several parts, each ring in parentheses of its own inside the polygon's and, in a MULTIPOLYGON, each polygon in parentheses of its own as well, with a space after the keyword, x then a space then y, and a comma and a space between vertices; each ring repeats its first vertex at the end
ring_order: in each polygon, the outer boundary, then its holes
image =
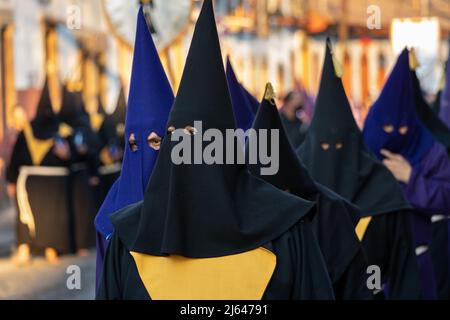
MULTIPOLYGON (((236 127, 211 0, 203 3, 167 128, 192 141, 197 120, 205 130, 222 134, 236 127)), ((130 251, 210 259, 260 247, 271 250, 277 261, 265 297, 333 298, 320 248, 303 221, 314 214, 314 203, 252 176, 245 164, 176 165, 172 140, 163 140, 143 202, 111 216, 115 231, 99 299, 151 298, 130 251)))

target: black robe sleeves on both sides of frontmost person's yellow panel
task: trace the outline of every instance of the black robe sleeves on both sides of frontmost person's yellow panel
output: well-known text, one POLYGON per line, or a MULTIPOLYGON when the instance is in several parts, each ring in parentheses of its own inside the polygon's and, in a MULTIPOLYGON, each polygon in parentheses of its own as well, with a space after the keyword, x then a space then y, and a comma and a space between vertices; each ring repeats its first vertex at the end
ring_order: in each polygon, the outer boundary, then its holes
MULTIPOLYGON (((277 265, 263 299, 334 299, 323 257, 309 222, 297 223, 267 247, 277 256, 277 265)), ((151 299, 127 246, 117 233, 110 240, 102 274, 96 297, 98 300, 151 299)))

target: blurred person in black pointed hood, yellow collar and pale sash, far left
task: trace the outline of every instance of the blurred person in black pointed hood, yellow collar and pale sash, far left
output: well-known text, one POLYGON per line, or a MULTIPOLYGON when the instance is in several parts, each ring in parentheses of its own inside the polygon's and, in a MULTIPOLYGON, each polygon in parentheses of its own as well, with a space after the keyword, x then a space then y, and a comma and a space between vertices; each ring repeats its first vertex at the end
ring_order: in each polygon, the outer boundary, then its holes
POLYGON ((46 81, 36 115, 19 133, 6 172, 8 183, 16 186, 19 252, 21 245, 27 246, 28 253, 49 248, 55 254, 71 251, 67 197, 71 155, 58 131, 46 81))

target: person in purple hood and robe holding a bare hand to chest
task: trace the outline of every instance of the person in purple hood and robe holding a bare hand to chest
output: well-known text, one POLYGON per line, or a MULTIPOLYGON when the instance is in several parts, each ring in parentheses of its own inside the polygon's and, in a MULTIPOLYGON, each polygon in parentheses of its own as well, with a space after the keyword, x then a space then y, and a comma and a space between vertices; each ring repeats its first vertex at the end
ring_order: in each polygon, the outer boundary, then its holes
POLYGON ((445 218, 450 208, 450 162, 445 148, 436 143, 420 122, 415 107, 409 54, 398 57, 365 125, 367 146, 394 174, 413 206, 411 215, 423 297, 436 298, 430 245, 431 217, 445 218))

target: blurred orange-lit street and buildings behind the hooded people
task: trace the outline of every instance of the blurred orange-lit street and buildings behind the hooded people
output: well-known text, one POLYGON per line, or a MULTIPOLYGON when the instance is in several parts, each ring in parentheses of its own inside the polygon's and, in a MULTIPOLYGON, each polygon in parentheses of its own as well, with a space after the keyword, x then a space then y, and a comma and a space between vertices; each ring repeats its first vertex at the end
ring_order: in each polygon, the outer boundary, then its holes
MULTIPOLYGON (((202 1, 144 2, 176 93, 202 1)), ((101 110, 113 113, 121 92, 128 96, 138 8, 138 0, 0 0, 0 299, 94 297, 93 248, 57 264, 39 255, 25 265, 14 261, 18 214, 6 168, 21 119, 35 116, 46 81, 55 113, 64 86, 81 95, 93 123, 101 110), (80 268, 79 290, 67 287, 70 266, 80 268)), ((314 101, 327 36, 359 125, 405 46, 416 48, 428 101, 441 89, 449 0, 216 0, 215 8, 223 56, 257 99, 270 81, 280 100, 301 91, 314 101)), ((303 112, 308 122, 312 108, 303 112)), ((85 226, 93 231, 93 219, 85 226)))

